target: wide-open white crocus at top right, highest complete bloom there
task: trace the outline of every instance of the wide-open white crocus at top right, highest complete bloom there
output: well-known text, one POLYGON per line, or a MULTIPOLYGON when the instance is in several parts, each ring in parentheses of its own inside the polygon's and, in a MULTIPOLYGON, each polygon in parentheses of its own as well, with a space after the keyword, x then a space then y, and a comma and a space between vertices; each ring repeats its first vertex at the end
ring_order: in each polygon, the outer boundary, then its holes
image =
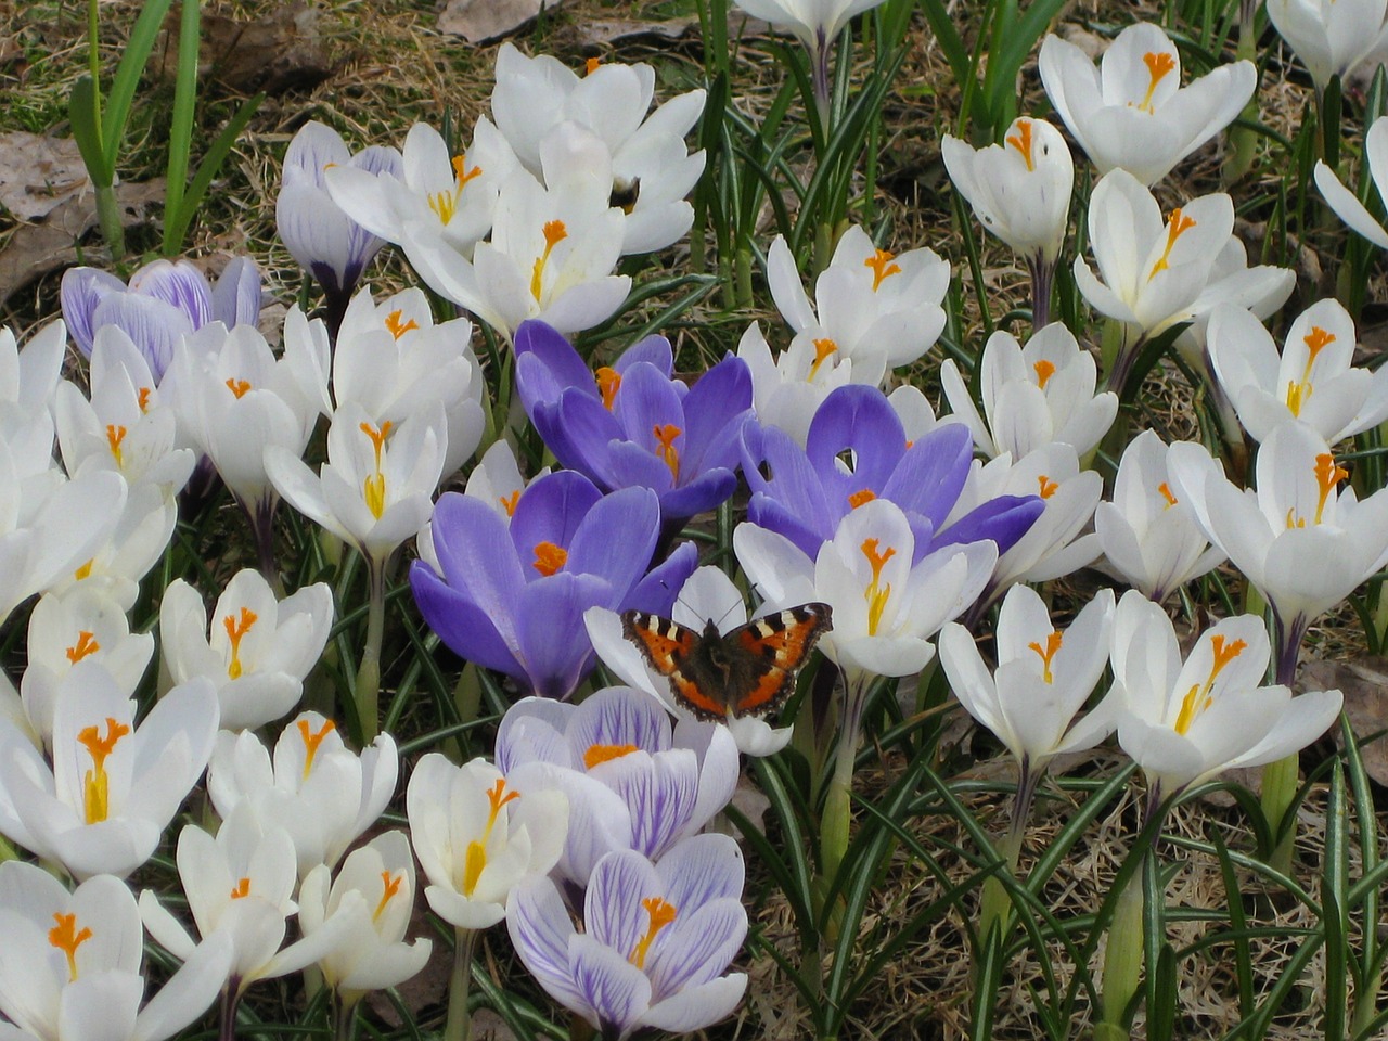
POLYGON ((1183 87, 1176 44, 1146 22, 1120 32, 1098 68, 1073 43, 1047 36, 1037 67, 1099 174, 1126 169, 1148 186, 1234 122, 1258 87, 1251 61, 1220 65, 1183 87))

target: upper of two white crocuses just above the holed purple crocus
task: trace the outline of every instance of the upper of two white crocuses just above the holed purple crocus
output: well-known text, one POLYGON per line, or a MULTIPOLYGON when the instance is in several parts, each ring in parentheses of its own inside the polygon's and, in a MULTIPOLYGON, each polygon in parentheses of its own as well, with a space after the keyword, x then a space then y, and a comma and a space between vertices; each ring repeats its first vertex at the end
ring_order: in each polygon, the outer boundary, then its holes
POLYGON ((813 301, 783 236, 766 254, 766 280, 790 328, 809 335, 816 359, 834 354, 861 368, 855 383, 919 359, 945 328, 940 304, 949 265, 929 248, 879 250, 858 225, 844 232, 815 279, 813 301))

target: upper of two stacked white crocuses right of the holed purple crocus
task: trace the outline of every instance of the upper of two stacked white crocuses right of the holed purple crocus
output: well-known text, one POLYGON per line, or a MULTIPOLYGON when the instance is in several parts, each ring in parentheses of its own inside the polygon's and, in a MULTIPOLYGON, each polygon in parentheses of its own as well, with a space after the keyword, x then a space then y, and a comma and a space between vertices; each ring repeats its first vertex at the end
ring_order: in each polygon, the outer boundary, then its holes
POLYGON ((949 408, 990 458, 1010 452, 1020 459, 1053 441, 1084 455, 1103 439, 1117 415, 1117 394, 1094 393, 1098 383, 1094 355, 1059 322, 1038 332, 1026 347, 1012 333, 995 332, 984 344, 980 365, 987 422, 974 408, 952 358, 940 366, 940 382, 949 408))

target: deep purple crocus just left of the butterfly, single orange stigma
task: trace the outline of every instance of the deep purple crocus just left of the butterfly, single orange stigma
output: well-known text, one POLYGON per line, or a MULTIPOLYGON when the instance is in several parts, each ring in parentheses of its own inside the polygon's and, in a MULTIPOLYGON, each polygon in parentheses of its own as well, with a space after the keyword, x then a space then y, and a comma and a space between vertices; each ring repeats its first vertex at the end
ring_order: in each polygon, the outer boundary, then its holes
POLYGON ((439 570, 415 561, 409 584, 430 627, 457 654, 514 676, 527 694, 568 698, 593 669, 590 607, 666 613, 698 562, 693 543, 647 575, 659 530, 655 493, 604 496, 582 473, 532 482, 509 518, 490 502, 439 498, 439 570))

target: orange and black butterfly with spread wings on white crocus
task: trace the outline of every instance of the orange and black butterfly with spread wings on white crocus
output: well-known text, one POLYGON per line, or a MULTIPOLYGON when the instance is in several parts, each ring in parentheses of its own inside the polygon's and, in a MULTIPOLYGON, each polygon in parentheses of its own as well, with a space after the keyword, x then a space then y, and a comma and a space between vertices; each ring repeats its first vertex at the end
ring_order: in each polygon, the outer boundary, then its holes
POLYGON ((762 716, 795 686, 795 673, 833 627, 829 604, 801 604, 719 633, 704 632, 645 611, 622 615, 622 634, 670 682, 675 700, 698 719, 762 716))

